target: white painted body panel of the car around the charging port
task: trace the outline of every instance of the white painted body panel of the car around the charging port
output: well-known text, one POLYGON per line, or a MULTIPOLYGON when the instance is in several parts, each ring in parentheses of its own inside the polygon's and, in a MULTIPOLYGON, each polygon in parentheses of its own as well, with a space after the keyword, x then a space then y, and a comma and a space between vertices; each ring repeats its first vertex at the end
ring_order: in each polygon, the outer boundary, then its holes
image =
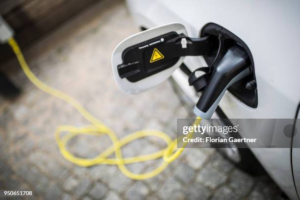
MULTIPOLYGON (((300 1, 127 0, 127 5, 137 25, 145 28, 178 22, 185 25, 188 36, 198 37, 204 25, 215 23, 248 45, 255 66, 258 107, 250 108, 227 91, 219 105, 229 119, 294 118, 300 100, 300 1)), ((207 66, 202 56, 186 56, 184 63, 191 71, 207 66)), ((291 149, 251 150, 286 194, 298 199, 291 149)))

